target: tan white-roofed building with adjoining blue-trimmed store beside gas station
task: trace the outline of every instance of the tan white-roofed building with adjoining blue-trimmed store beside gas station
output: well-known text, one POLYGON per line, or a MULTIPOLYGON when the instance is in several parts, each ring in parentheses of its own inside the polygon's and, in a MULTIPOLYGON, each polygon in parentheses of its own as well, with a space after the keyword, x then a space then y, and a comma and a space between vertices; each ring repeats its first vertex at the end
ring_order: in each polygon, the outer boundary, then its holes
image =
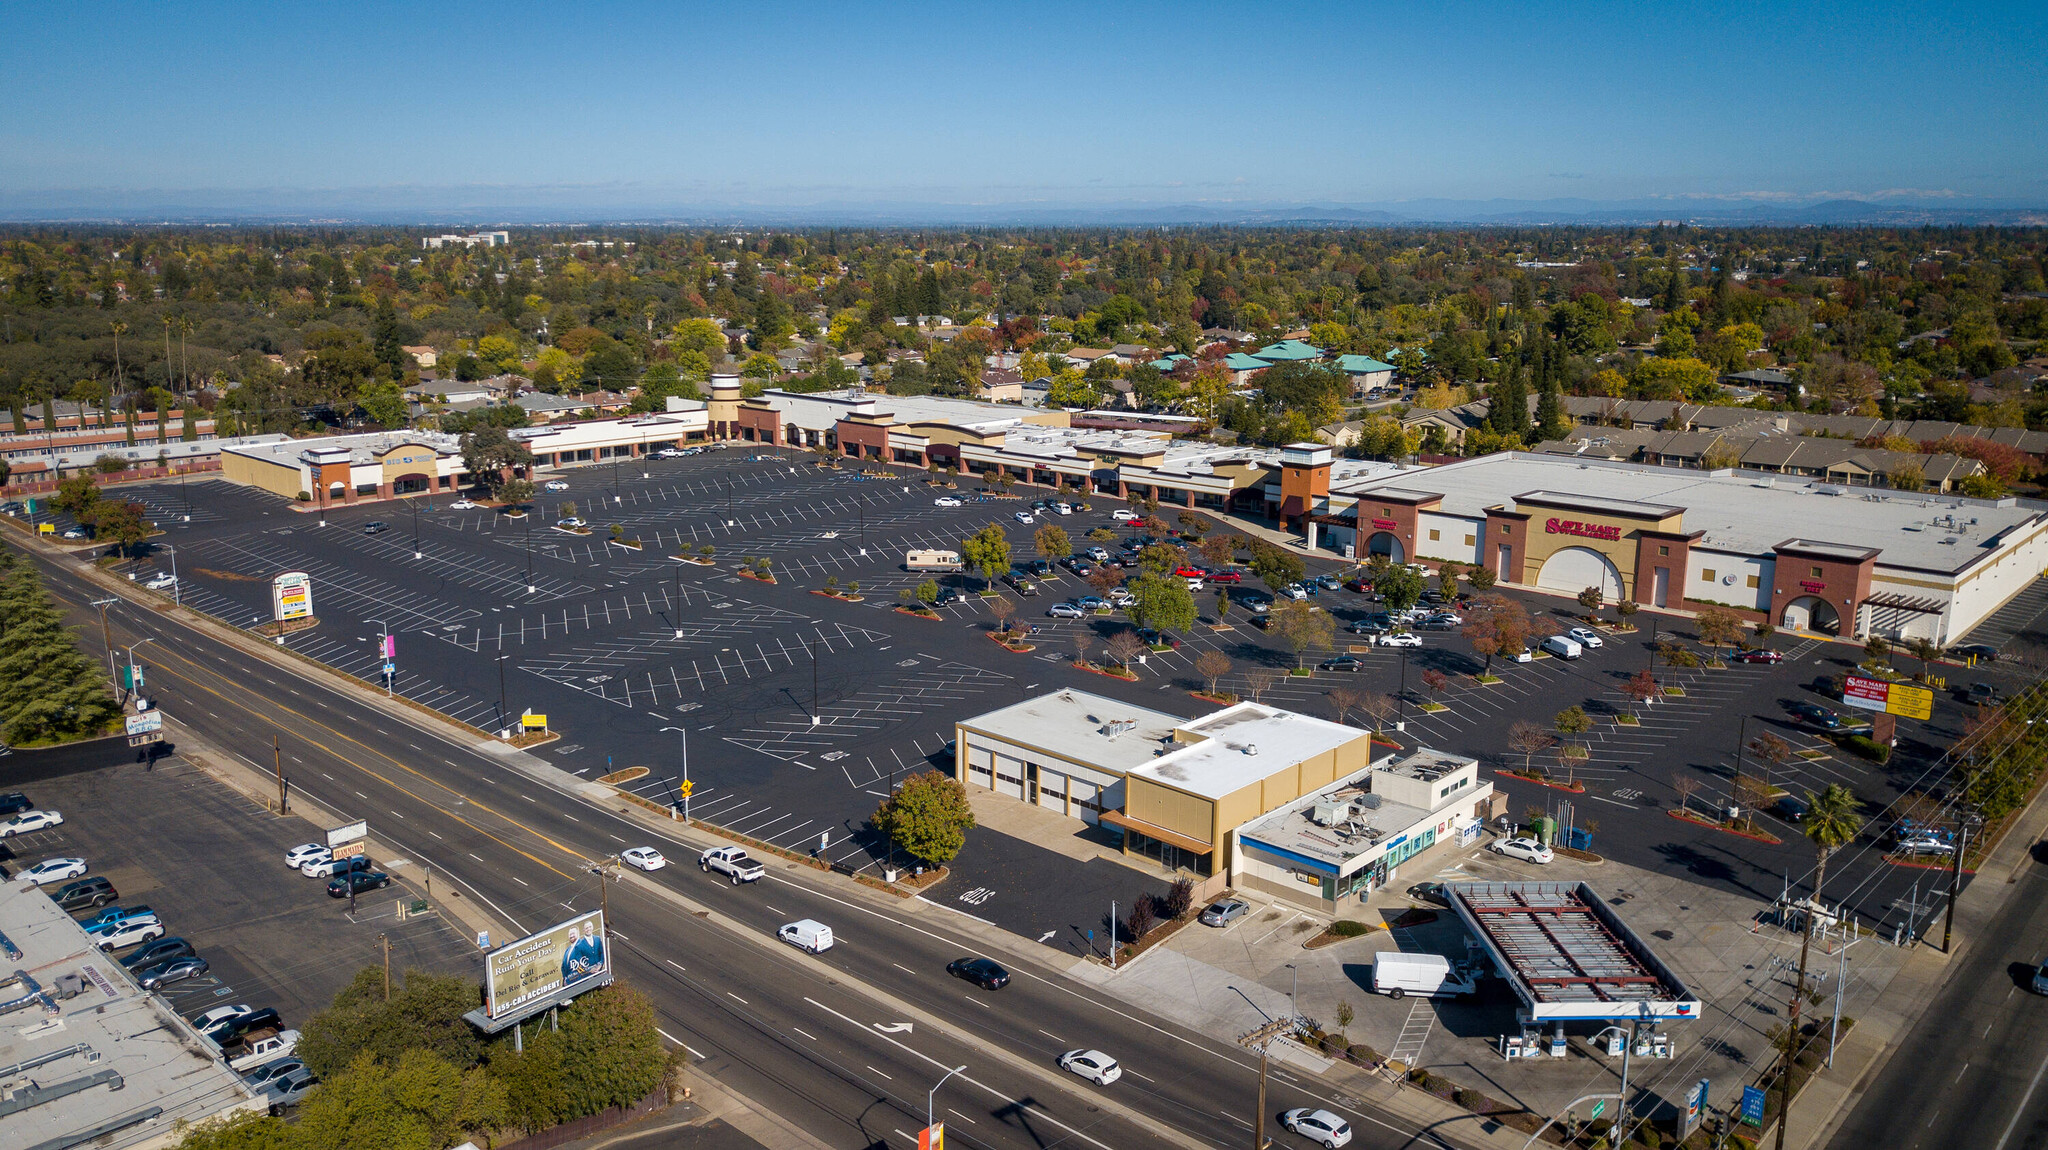
POLYGON ((1200 718, 1061 690, 954 724, 954 778, 1120 835, 1167 870, 1333 909, 1473 835, 1479 763, 1241 702, 1200 718), (1358 798, 1370 794, 1370 798, 1358 798), (1360 810, 1352 814, 1354 806, 1360 810), (1343 819, 1296 827, 1296 816, 1343 819), (1307 812, 1307 814, 1303 814, 1307 812))

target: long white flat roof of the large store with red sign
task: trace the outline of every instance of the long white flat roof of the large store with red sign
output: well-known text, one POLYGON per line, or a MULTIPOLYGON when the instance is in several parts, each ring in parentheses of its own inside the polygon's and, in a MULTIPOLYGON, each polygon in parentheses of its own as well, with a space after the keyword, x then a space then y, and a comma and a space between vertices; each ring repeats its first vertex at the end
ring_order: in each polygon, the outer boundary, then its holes
MULTIPOLYGON (((1366 499, 1378 489, 1350 491, 1366 499)), ((1583 460, 1501 452, 1450 462, 1425 473, 1403 473, 1389 493, 1442 495, 1442 512, 1483 520, 1487 507, 1516 507, 1526 493, 1579 497, 1587 510, 1602 503, 1683 507, 1686 532, 1706 532, 1696 546, 1737 555, 1769 555, 1790 538, 1835 544, 1858 552, 1880 548, 1884 567, 1958 573, 2015 526, 2040 512, 1958 495, 1841 487, 1796 475, 1714 475, 1675 467, 1583 460), (1956 528, 1948 526, 1954 516, 1956 528), (1974 524, 1970 520, 1976 520, 1974 524), (1944 542, 1944 540, 1954 542, 1944 542)))

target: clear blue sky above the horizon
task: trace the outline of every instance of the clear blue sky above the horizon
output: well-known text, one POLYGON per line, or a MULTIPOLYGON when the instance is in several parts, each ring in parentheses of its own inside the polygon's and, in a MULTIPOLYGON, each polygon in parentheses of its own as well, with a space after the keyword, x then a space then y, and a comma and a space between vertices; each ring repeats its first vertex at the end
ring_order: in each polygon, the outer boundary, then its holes
POLYGON ((2048 205, 2048 4, 8 4, 0 196, 2048 205))

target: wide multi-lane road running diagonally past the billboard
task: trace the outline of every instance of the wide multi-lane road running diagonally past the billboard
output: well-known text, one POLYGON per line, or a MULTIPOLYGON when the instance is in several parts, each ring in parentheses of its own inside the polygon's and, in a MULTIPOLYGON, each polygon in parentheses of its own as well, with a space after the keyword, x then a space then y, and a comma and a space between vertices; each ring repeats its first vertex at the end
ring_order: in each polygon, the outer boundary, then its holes
MULTIPOLYGON (((74 565, 39 559, 72 608, 98 598, 74 565)), ((563 771, 487 753, 473 737, 174 612, 123 606, 109 612, 109 626, 121 647, 156 638, 152 694, 174 726, 252 765, 268 765, 276 735, 295 792, 369 819, 373 841, 428 864, 506 929, 594 909, 594 861, 627 845, 662 845, 680 866, 633 874, 608 894, 621 978, 653 999, 664 1033, 688 1046, 696 1072, 827 1146, 913 1146, 926 1091, 954 1066, 967 1070, 934 1109, 961 1146, 1251 1138, 1257 1074, 1247 1052, 1141 1017, 1014 954, 993 956, 1014 972, 1004 990, 952 980, 946 962, 983 947, 950 913, 905 915, 834 892, 793 864, 733 888, 690 866, 690 843, 641 829, 563 771), (774 927, 805 917, 834 925, 838 945, 813 958, 772 941, 774 927), (1061 1072, 1055 1060, 1071 1048, 1114 1054, 1124 1078, 1098 1089, 1061 1072)), ((96 640, 98 626, 82 634, 96 640)), ((190 847, 195 857, 207 849, 203 827, 190 847)), ((274 945, 289 952, 295 941, 274 945)), ((1438 1144, 1407 1123, 1341 1107, 1313 1080, 1276 1074, 1268 1115, 1296 1105, 1343 1109, 1354 1146, 1438 1144)))

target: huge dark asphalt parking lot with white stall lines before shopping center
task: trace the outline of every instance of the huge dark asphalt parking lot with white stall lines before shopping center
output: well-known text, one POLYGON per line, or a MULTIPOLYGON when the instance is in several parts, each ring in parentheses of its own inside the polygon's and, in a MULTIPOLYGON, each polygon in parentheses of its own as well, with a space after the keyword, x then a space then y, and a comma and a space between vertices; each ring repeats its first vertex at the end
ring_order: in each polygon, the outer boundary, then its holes
MULTIPOLYGON (((1061 685, 1198 714, 1210 706, 1188 698, 1202 685, 1194 673, 1198 653, 1231 657, 1223 688, 1237 694, 1249 690, 1249 671, 1294 665, 1276 636, 1243 626, 1247 616, 1233 612, 1237 626, 1198 624, 1178 651, 1151 655, 1135 683, 1077 671, 1077 632, 1100 638, 1126 624, 1042 616, 1051 602, 1090 591, 1071 575, 1020 602, 1018 616, 1038 626, 1028 655, 983 638, 993 616, 977 598, 940 608, 938 620, 893 610, 897 591, 924 579, 901 569, 907 548, 956 548, 963 536, 997 522, 1010 532, 1014 557, 1028 559, 1032 526, 1012 514, 1042 495, 1036 489, 1018 489, 1024 503, 936 507, 940 491, 922 477, 870 479, 819 469, 807 456, 784 460, 733 448, 637 460, 616 479, 610 465, 559 477, 569 489, 543 493, 524 520, 455 512, 444 499, 340 507, 322 518, 221 481, 188 491, 123 491, 152 512, 170 512, 160 522, 176 548, 186 606, 248 626, 268 618, 272 575, 307 571, 322 622, 289 638, 295 651, 383 685, 377 640, 389 630, 397 634, 389 681, 395 694, 483 728, 526 710, 547 714, 561 739, 537 749, 539 757, 586 780, 645 765, 649 773, 633 788, 655 802, 678 798, 688 755, 694 816, 788 849, 823 843, 831 859, 848 866, 877 864, 883 851, 866 816, 893 780, 944 763, 958 716, 1061 685), (186 499, 201 510, 190 522, 180 510, 186 499), (565 503, 594 526, 592 534, 553 528, 565 503), (373 520, 387 530, 367 534, 373 520), (610 542, 612 524, 643 548, 610 542), (672 561, 684 542, 715 546, 719 563, 672 561), (778 581, 733 573, 743 557, 770 559, 778 581), (858 581, 866 602, 811 593, 827 577, 858 581)), ((975 487, 963 481, 958 493, 975 487)), ((1098 497, 1094 512, 1044 522, 1079 542, 1096 526, 1116 528, 1108 516, 1116 505, 1098 497)), ((1171 520, 1171 510, 1161 512, 1171 520)), ((168 569, 168 559, 156 555, 133 569, 147 579, 168 569)), ((1313 555, 1309 567, 1337 571, 1346 563, 1313 555)), ((1212 593, 1196 602, 1204 616, 1212 610, 1212 593)), ((1341 622, 1372 608, 1348 591, 1325 591, 1317 602, 1341 622)), ((1556 612, 1571 604, 1532 595, 1530 608, 1556 612)), ((1810 851, 1790 827, 1780 831, 1788 841, 1774 847, 1669 819, 1677 771, 1698 776, 1708 794, 1716 786, 1724 792, 1741 737, 1772 731, 1794 751, 1812 753, 1776 767, 1772 782, 1792 790, 1845 782, 1866 800, 1888 804, 1923 786, 1927 765, 1962 733, 1964 708, 1944 698, 1929 722, 1901 722, 1901 747, 1886 767, 1817 739, 1792 722, 1786 706, 1815 700, 1808 683, 1853 667, 1860 651, 1800 636, 1772 640, 1786 655, 1780 665, 1659 667, 1659 679, 1683 688, 1683 696, 1640 708, 1640 726, 1616 724, 1622 681, 1649 665, 1649 616, 1638 622, 1642 632, 1610 638, 1579 661, 1497 659, 1495 685, 1473 679, 1481 661, 1462 636, 1434 632, 1407 653, 1362 651, 1360 673, 1284 677, 1264 698, 1333 716, 1333 688, 1395 694, 1407 708, 1401 739, 1497 767, 1520 763, 1507 747, 1516 720, 1548 726, 1559 710, 1583 706, 1595 718, 1583 737, 1593 757, 1577 769, 1587 792, 1565 796, 1495 776, 1511 798, 1509 810, 1554 810, 1569 798, 1581 825, 1599 825, 1595 849, 1763 898, 1778 894, 1786 874, 1804 874, 1810 851), (1442 712, 1421 714, 1430 698, 1423 673, 1432 669, 1444 671, 1450 688, 1438 696, 1442 712)), ((1683 620, 1669 626, 1690 630, 1683 620)), ((1346 638, 1339 634, 1339 649, 1346 638)), ((1995 669, 1952 673, 2001 679, 1995 669)), ((2011 685, 2019 675, 2003 677, 2011 685)), ((1831 880, 1831 890, 1876 925, 1917 915, 1896 904, 1917 906, 1907 890, 1925 876, 1866 855, 1839 868, 1843 878, 1831 880)), ((973 894, 956 909, 1038 937, 1092 917, 1090 904, 1106 884, 1083 880, 1077 868, 1030 843, 977 835, 956 861, 958 876, 971 882, 950 882, 932 898, 958 902, 973 894), (1079 904, 1059 906, 1067 892, 1079 904)), ((1133 894, 1143 888, 1143 876, 1130 874, 1128 882, 1133 894)))

